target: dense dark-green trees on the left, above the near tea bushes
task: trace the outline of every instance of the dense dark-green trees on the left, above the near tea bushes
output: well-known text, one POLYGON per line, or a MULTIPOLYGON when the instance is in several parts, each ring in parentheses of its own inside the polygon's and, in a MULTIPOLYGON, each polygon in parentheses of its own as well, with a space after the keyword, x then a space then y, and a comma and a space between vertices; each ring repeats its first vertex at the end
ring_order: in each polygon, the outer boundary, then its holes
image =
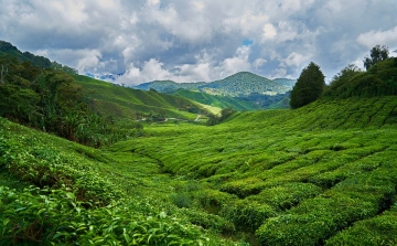
POLYGON ((82 87, 62 69, 42 69, 12 55, 1 55, 0 66, 7 71, 0 83, 2 117, 94 147, 128 139, 141 128, 121 128, 93 111, 82 87))

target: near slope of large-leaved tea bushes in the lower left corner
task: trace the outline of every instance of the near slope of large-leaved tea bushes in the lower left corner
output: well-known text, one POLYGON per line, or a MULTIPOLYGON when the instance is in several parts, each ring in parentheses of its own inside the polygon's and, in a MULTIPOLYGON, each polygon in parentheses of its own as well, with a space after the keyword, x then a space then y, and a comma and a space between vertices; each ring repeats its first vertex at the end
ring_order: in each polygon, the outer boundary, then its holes
POLYGON ((0 244, 217 245, 155 201, 127 199, 98 163, 118 162, 0 118, 0 244))

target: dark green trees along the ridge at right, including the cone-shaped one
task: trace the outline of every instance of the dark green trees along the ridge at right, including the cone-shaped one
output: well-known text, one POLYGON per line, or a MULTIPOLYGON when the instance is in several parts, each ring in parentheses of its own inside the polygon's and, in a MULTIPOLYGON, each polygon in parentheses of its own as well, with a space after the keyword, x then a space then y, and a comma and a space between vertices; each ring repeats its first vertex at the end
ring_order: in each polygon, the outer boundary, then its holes
POLYGON ((366 72, 350 64, 332 78, 329 86, 320 66, 311 62, 303 68, 291 92, 291 108, 302 107, 321 97, 397 95, 397 57, 389 57, 387 46, 374 46, 363 62, 366 72))

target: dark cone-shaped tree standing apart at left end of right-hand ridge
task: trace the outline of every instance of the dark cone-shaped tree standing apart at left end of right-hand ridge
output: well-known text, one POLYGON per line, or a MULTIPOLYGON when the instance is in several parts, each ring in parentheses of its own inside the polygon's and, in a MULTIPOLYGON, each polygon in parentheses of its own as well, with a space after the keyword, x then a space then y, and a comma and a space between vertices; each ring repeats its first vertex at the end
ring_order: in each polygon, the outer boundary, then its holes
POLYGON ((300 74, 291 92, 291 108, 299 108, 320 98, 325 82, 320 66, 311 62, 300 74))

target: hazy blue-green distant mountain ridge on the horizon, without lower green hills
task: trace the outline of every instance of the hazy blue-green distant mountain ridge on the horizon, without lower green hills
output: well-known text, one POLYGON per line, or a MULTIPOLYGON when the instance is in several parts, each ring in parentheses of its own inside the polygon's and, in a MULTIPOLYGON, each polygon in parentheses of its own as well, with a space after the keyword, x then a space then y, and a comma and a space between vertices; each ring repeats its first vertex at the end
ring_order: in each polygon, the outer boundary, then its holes
POLYGON ((288 78, 269 79, 249 72, 239 72, 224 79, 210 83, 175 83, 172 81, 154 81, 135 86, 137 89, 150 88, 161 93, 173 93, 178 89, 197 90, 210 95, 245 97, 250 94, 278 95, 291 90, 296 81, 288 78))

